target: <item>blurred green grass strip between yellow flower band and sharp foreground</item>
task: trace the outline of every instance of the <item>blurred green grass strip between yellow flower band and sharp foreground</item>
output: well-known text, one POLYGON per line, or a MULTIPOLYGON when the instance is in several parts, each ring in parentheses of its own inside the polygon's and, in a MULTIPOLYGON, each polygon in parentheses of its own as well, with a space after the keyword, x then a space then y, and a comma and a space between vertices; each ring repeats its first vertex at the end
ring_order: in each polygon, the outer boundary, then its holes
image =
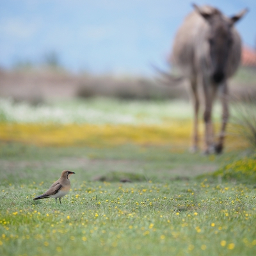
POLYGON ((131 144, 101 148, 37 147, 12 142, 2 142, 0 145, 1 184, 43 181, 45 172, 53 181, 61 169, 82 173, 83 176, 79 177, 81 180, 93 180, 99 175, 111 177, 118 172, 136 173, 143 177, 143 181, 164 182, 211 172, 240 154, 233 151, 218 157, 205 157, 201 154, 173 152, 171 146, 131 144))

